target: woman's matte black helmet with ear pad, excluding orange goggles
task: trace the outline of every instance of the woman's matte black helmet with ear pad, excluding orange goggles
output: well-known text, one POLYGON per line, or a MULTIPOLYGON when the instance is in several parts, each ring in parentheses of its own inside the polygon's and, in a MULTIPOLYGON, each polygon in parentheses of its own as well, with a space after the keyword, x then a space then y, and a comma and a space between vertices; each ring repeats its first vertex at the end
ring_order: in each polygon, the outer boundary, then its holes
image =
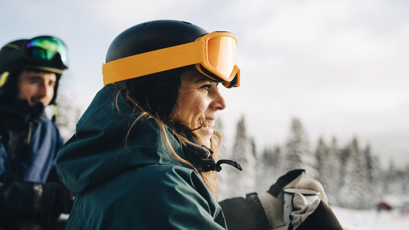
MULTIPOLYGON (((177 20, 155 20, 126 29, 112 41, 106 63, 128 56, 194 42, 208 32, 196 25, 177 20)), ((175 104, 182 72, 192 65, 117 82, 147 111, 169 117, 175 104)), ((124 93, 124 92, 122 92, 124 93)))

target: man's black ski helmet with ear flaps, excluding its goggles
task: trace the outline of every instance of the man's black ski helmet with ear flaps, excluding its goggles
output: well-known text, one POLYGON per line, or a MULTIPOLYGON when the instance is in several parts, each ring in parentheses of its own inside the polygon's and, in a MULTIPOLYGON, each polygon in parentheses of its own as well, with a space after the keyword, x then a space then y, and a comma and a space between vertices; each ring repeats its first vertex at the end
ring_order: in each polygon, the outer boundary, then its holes
MULTIPOLYGON (((56 39, 62 43, 58 38, 52 36, 39 36, 49 37, 56 39)), ((32 59, 28 57, 25 52, 25 46, 31 39, 20 39, 12 41, 4 45, 0 49, 0 100, 10 100, 14 99, 16 96, 16 87, 18 74, 23 69, 34 69, 34 70, 44 70, 48 72, 54 72, 56 74, 56 84, 54 86, 54 95, 49 104, 55 104, 55 99, 57 96, 58 82, 61 78, 63 70, 67 69, 68 66, 61 60, 61 54, 58 52, 50 60, 40 60, 32 59)), ((63 43, 62 43, 63 44, 63 43)))

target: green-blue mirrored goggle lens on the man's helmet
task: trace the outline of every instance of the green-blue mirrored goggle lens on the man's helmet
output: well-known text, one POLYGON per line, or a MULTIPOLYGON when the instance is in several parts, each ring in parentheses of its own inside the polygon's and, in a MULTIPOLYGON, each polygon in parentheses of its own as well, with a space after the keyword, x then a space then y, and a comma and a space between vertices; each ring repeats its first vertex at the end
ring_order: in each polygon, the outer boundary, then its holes
POLYGON ((68 66, 67 47, 63 41, 52 36, 40 36, 31 39, 26 45, 27 55, 33 59, 51 60, 56 53, 60 54, 61 61, 68 66))

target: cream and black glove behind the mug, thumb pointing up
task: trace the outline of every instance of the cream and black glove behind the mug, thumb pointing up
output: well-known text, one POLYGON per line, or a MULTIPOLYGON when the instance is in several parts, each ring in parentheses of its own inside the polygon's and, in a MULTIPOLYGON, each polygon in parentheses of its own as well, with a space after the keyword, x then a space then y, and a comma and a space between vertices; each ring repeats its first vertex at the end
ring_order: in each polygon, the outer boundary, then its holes
POLYGON ((325 203, 328 203, 328 198, 321 183, 319 183, 317 180, 312 179, 303 180, 303 177, 306 174, 307 171, 304 169, 294 169, 288 171, 285 175, 281 176, 267 192, 258 195, 270 227, 272 227, 273 229, 278 229, 281 226, 286 226, 283 221, 283 189, 291 187, 314 189, 320 192, 319 199, 324 201, 325 203))

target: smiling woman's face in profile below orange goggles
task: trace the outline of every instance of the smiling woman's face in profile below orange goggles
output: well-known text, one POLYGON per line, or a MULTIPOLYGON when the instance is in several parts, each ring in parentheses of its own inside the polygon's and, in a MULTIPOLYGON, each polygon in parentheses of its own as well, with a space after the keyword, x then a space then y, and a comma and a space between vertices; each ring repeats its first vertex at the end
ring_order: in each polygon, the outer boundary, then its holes
POLYGON ((213 135, 217 111, 226 108, 225 99, 218 90, 218 83, 211 82, 194 70, 188 70, 180 75, 180 92, 176 99, 177 105, 173 106, 171 116, 180 122, 186 122, 191 128, 196 129, 205 124, 198 133, 210 147, 210 137, 213 135), (205 115, 203 122, 202 115, 205 115))

